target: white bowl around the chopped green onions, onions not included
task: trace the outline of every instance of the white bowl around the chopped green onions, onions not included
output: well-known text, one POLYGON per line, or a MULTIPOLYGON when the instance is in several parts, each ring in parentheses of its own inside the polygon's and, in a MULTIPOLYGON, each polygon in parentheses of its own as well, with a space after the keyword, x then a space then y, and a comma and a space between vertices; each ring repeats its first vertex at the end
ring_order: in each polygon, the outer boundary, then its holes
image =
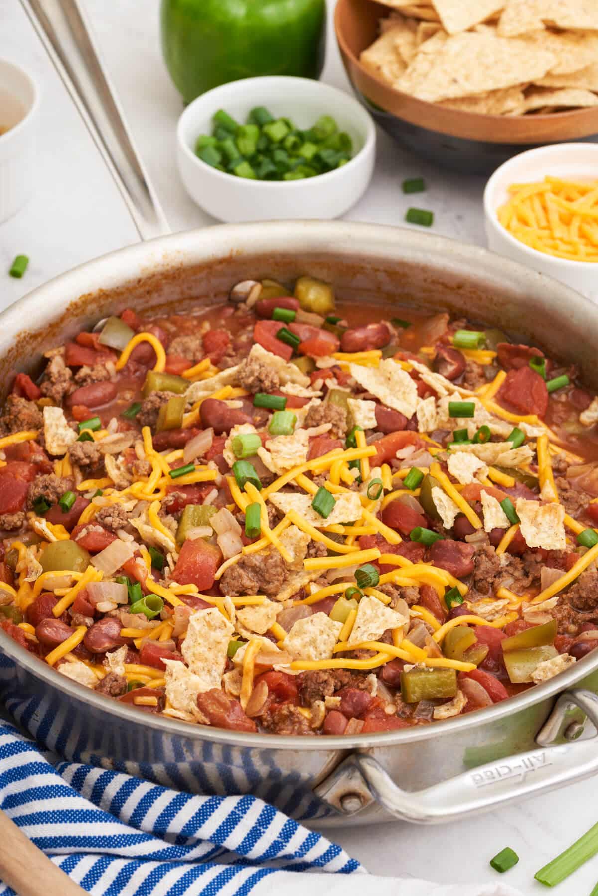
POLYGON ((214 218, 239 221, 337 218, 366 191, 374 170, 376 128, 368 112, 348 93, 308 78, 245 78, 222 84, 194 99, 178 121, 178 170, 191 198, 214 218), (245 123, 249 111, 265 106, 308 128, 322 115, 334 116, 353 141, 353 158, 342 168, 296 181, 247 180, 211 168, 195 155, 200 134, 212 134, 212 116, 226 109, 245 123))

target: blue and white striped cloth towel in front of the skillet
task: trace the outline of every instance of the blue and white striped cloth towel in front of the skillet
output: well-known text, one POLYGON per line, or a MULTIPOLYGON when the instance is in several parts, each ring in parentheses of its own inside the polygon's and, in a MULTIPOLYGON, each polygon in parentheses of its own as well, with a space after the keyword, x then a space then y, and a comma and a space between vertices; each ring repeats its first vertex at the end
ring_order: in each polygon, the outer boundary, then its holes
MULTIPOLYGON (((61 762, 0 722, 0 807, 93 896, 517 896, 369 876, 355 859, 255 797, 192 797, 61 762), (305 874, 308 872, 309 882, 305 874)), ((0 882, 0 896, 14 891, 0 882)), ((52 894, 54 896, 54 894, 52 894)))

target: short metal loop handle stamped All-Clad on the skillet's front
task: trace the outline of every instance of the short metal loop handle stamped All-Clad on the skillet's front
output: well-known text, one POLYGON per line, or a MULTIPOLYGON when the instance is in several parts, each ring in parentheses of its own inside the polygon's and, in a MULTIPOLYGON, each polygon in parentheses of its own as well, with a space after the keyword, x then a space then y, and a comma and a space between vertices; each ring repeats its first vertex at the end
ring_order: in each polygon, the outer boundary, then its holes
MULTIPOLYGON (((586 690, 568 691, 559 697, 542 728, 538 736, 541 743, 545 739, 542 736, 549 732, 554 737, 554 719, 562 719, 565 706, 571 703, 585 712, 598 731, 598 696, 586 690)), ((352 754, 316 788, 316 794, 345 815, 357 814, 376 801, 388 814, 403 821, 445 823, 589 778, 598 771, 597 741, 594 735, 577 743, 540 746, 415 793, 398 788, 373 756, 352 754)))

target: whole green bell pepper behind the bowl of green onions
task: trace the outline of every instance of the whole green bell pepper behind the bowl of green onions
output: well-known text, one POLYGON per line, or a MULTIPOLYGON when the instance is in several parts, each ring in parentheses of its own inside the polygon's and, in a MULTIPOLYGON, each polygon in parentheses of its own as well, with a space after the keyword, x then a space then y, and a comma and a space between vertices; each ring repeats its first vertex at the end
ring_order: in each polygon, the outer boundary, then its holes
POLYGON ((239 78, 318 78, 325 13, 325 0, 162 0, 162 52, 185 103, 239 78))

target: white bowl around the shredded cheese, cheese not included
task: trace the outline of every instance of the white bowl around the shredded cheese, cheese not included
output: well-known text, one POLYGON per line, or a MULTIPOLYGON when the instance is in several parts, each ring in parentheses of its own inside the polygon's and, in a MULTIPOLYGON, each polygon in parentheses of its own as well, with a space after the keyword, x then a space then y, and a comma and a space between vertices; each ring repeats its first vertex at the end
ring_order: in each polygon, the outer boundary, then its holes
POLYGON ((554 143, 522 152, 497 168, 484 191, 488 246, 493 252, 523 262, 534 271, 548 274, 598 302, 598 263, 571 262, 567 258, 538 252, 513 237, 498 221, 498 209, 510 198, 510 185, 535 183, 546 176, 576 181, 598 180, 598 145, 554 143))

